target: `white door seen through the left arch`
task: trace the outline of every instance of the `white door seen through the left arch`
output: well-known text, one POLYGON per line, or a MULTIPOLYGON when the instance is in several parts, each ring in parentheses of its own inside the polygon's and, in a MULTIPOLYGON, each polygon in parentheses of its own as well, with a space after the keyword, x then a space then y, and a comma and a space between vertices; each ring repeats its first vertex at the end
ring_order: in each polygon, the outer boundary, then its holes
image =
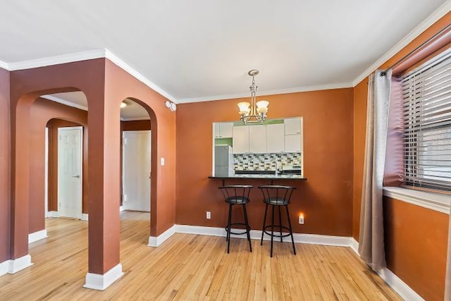
POLYGON ((58 214, 82 217, 83 128, 58 128, 58 214))

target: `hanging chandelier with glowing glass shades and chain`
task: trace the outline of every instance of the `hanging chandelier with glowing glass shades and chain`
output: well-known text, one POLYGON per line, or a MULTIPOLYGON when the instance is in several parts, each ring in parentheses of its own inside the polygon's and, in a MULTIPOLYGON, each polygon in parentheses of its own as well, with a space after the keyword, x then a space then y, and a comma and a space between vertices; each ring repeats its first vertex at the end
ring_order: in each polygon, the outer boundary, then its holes
POLYGON ((255 85, 255 76, 259 74, 259 70, 250 70, 247 74, 252 76, 252 85, 249 87, 251 90, 251 103, 240 102, 238 108, 240 108, 241 121, 243 123, 263 123, 266 120, 266 113, 268 113, 268 104, 266 100, 260 100, 257 102, 255 93, 257 92, 257 85, 255 85))

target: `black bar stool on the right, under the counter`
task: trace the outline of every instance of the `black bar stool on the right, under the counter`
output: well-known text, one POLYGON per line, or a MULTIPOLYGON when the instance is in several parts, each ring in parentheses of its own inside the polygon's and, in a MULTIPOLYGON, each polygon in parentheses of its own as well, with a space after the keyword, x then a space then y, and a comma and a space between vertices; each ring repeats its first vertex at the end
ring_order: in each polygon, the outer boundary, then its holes
MULTIPOLYGON (((291 242, 293 244, 293 252, 296 254, 295 240, 293 238, 293 231, 291 228, 290 212, 288 212, 288 204, 290 204, 290 199, 292 192, 296 189, 292 186, 280 186, 280 185, 263 185, 259 186, 261 192, 263 193, 263 202, 266 204, 265 216, 263 219, 263 227, 261 228, 261 241, 260 245, 263 245, 263 235, 266 233, 271 236, 271 257, 273 257, 273 238, 280 238, 280 242, 283 238, 291 236, 291 242), (271 223, 266 225, 266 215, 268 213, 268 205, 271 205, 271 223), (279 221, 278 224, 274 223, 274 207, 278 207, 279 211, 279 221), (282 225, 282 214, 280 213, 280 207, 285 207, 287 213, 288 226, 282 225), (279 228, 280 234, 274 233, 274 228, 279 228), (271 228, 271 232, 268 232, 268 228, 271 228), (289 233, 282 233, 282 229, 288 231, 289 233)), ((277 231, 277 230, 276 230, 277 231)))

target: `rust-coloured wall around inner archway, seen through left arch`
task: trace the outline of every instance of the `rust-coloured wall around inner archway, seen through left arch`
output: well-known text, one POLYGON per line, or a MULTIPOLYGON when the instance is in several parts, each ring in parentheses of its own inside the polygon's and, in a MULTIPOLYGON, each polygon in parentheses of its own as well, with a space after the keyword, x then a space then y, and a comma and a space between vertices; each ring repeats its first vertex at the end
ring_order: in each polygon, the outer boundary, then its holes
MULTIPOLYGON (((87 112, 70 106, 58 104, 48 99, 38 98, 33 102, 30 111, 30 213, 29 233, 41 231, 44 224, 44 182, 45 182, 45 127, 52 118, 65 118, 69 121, 78 121, 87 125, 87 112)), ((59 121, 63 125, 64 121, 59 121)), ((56 135, 49 130, 49 210, 58 210, 58 122, 50 123, 56 125, 53 128, 56 135), (53 139, 52 139, 53 138, 53 139), (55 209, 56 206, 56 209, 55 209)), ((66 123, 77 125, 77 123, 66 123)), ((67 126, 67 125, 66 125, 67 126)), ((84 171, 87 169, 83 164, 84 171)), ((84 181, 87 183, 87 181, 84 181)), ((86 185, 83 187, 87 188, 86 185)), ((85 202, 84 202, 85 203, 85 202)), ((85 206, 84 206, 85 207, 85 206)))

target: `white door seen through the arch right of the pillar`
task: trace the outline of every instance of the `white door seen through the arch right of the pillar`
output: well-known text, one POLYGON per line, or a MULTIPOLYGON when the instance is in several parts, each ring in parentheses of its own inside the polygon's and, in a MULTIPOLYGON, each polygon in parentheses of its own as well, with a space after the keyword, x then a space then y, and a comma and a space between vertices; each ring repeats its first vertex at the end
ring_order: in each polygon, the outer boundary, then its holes
POLYGON ((150 130, 123 132, 123 209, 150 211, 150 130))

